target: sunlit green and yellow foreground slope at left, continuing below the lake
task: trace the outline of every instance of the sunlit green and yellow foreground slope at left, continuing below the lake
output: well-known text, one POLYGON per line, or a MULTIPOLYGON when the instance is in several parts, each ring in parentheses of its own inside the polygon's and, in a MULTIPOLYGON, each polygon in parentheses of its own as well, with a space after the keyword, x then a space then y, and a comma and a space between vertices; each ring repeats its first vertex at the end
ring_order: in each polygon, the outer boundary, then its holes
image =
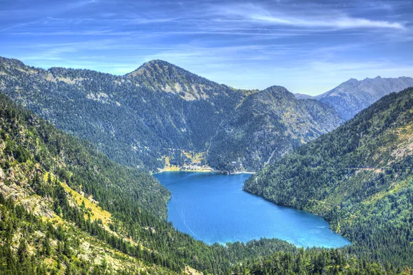
POLYGON ((3 94, 0 129, 0 274, 402 272, 277 239, 195 241, 166 221, 169 192, 153 177, 111 161, 3 94))

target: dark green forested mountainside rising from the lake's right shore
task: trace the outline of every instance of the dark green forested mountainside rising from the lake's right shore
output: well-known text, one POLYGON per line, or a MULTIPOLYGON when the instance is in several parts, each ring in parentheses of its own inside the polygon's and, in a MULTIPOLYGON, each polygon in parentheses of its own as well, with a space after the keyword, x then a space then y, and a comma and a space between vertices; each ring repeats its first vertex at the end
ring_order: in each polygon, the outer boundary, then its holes
POLYGON ((244 190, 319 214, 361 259, 413 265, 413 88, 248 179, 244 190))

